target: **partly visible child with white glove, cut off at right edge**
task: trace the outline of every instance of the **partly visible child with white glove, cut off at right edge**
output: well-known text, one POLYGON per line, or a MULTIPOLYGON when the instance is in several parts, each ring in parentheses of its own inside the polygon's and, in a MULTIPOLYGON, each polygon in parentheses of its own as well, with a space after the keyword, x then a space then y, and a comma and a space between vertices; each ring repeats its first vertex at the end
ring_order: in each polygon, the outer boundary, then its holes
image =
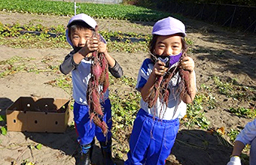
POLYGON ((245 145, 250 144, 250 165, 256 164, 256 118, 248 122, 236 136, 235 145, 227 165, 241 165, 240 154, 245 145))

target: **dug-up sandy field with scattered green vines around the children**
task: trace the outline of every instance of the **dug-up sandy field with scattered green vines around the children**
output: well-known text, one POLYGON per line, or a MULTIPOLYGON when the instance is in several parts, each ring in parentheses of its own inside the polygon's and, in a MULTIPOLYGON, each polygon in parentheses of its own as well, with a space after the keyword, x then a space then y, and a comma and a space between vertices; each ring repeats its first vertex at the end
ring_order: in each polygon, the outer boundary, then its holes
MULTIPOLYGON (((72 100, 71 75, 62 75, 58 68, 72 50, 62 35, 70 15, 10 10, 0 12, 1 164, 75 164, 78 143, 72 117, 65 133, 6 132, 5 125, 6 108, 20 96, 72 100), (22 30, 34 33, 17 33, 22 30), (35 31, 41 34, 36 35, 35 31)), ((143 59, 148 57, 146 43, 154 20, 115 17, 95 16, 102 35, 108 39, 109 52, 124 71, 120 80, 111 77, 109 87, 114 121, 113 154, 117 164, 123 164, 139 110, 140 96, 134 88, 136 77, 143 59)), ((166 164, 227 164, 237 133, 256 115, 256 37, 197 20, 180 19, 186 25, 189 55, 196 64, 197 97, 181 119, 166 164)), ((102 164, 98 146, 96 142, 93 160, 102 164)), ((249 147, 243 151, 243 164, 248 164, 249 147)))

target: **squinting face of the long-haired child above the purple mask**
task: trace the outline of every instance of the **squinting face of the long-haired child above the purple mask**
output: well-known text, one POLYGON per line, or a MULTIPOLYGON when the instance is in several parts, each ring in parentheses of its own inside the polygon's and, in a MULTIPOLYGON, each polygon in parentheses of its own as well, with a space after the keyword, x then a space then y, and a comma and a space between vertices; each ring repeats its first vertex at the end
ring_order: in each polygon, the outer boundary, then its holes
POLYGON ((155 45, 155 52, 157 55, 177 55, 181 52, 182 43, 181 36, 178 35, 166 35, 158 36, 157 43, 155 45))

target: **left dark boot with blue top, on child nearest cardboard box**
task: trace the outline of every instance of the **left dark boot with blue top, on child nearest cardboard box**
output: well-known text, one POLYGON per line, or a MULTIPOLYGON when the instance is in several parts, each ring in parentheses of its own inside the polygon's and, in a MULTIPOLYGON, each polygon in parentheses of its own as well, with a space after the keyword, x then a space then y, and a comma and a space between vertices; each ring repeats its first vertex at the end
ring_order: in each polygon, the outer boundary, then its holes
POLYGON ((93 139, 87 145, 81 145, 81 157, 79 159, 78 165, 90 165, 93 154, 93 145, 95 140, 93 139))

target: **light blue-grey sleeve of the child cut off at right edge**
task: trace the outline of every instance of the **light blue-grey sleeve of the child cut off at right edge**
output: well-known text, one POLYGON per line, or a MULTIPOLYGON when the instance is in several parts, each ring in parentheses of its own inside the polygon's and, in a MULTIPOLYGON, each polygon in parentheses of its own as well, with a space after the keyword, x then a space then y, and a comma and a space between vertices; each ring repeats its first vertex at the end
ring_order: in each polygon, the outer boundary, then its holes
POLYGON ((256 137, 256 118, 254 121, 248 122, 241 132, 236 136, 236 140, 246 144, 251 144, 251 141, 256 137))

